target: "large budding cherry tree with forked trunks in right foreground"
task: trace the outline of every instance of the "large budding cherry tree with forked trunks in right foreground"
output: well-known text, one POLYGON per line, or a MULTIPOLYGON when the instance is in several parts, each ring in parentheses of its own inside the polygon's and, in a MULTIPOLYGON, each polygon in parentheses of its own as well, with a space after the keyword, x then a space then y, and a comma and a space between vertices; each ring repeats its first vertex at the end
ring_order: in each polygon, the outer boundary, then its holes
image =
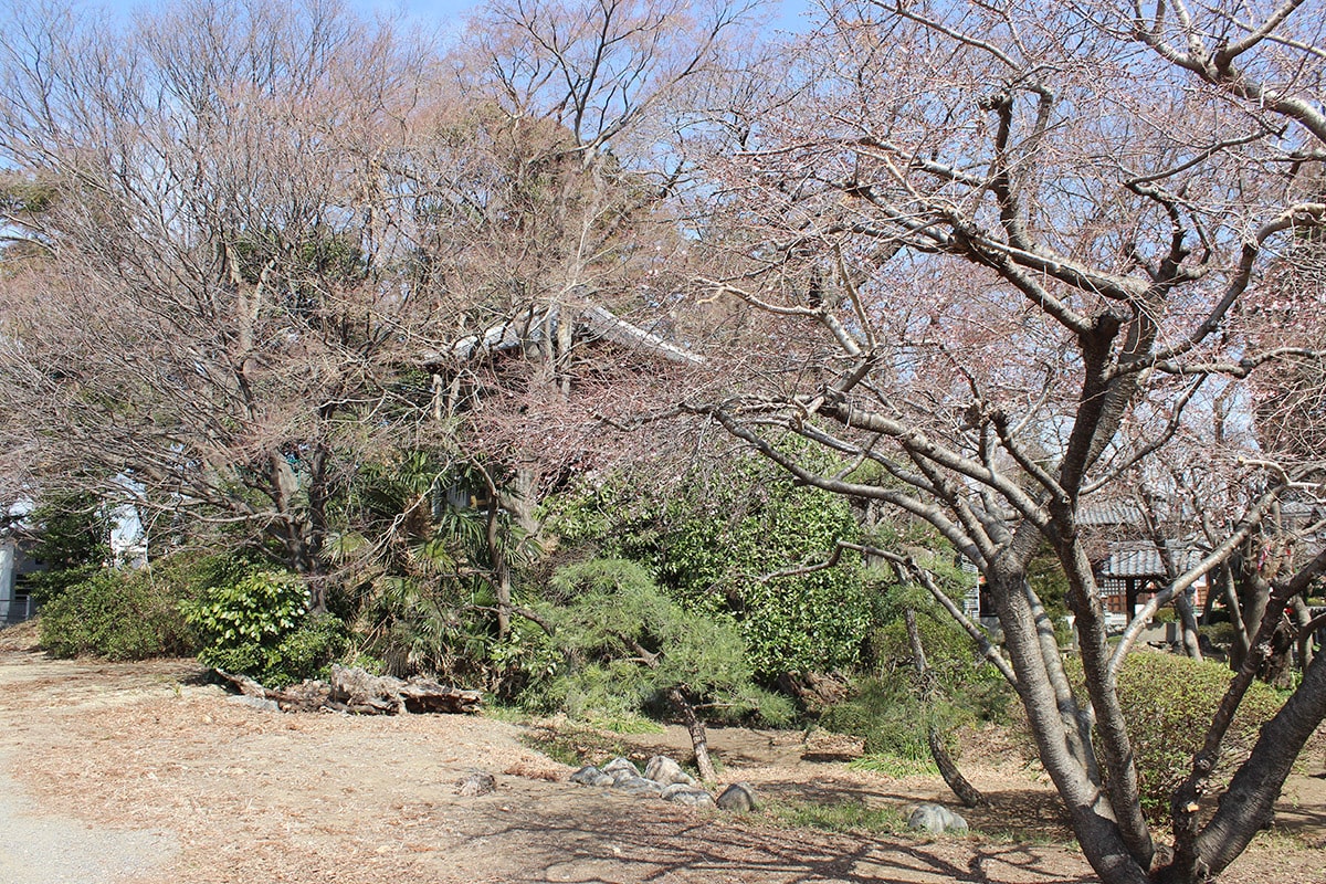
MULTIPOLYGON (((760 125, 712 163, 711 243, 732 261, 712 290, 781 317, 785 347, 781 370, 690 411, 798 481, 928 522, 981 571, 1041 759, 1110 884, 1223 871, 1326 716, 1318 660, 1203 815, 1269 653, 1264 618, 1159 843, 1115 692, 1126 651, 1107 644, 1081 518, 1164 457, 1196 379, 1319 358, 1253 341, 1240 307, 1326 220, 1302 174, 1326 158, 1326 53, 1319 16, 1299 7, 830 4, 760 125), (1123 449, 1130 423, 1151 437, 1123 449), (782 433, 849 465, 809 469, 773 444, 782 433), (884 478, 854 480, 861 464, 884 478), (1041 542, 1069 579, 1087 697, 1026 580, 1041 542)), ((1172 590, 1317 482, 1305 464, 1257 473, 1242 518, 1172 590)), ((1268 608, 1323 567, 1326 550, 1268 575, 1268 608)))

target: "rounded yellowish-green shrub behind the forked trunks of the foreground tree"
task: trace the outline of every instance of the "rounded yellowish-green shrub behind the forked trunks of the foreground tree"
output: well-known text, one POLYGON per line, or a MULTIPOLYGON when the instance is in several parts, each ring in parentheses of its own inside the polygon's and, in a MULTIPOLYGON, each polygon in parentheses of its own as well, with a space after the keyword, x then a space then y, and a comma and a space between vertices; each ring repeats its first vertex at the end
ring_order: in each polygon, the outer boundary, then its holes
MULTIPOLYGON (((1207 726, 1229 687, 1231 673, 1220 663, 1197 663, 1172 653, 1136 651, 1119 673, 1119 704, 1128 722, 1142 804, 1155 818, 1168 814, 1170 797, 1192 770, 1207 726)), ((1212 783, 1229 782, 1252 751, 1261 725, 1280 709, 1273 688, 1254 681, 1223 744, 1212 783)))

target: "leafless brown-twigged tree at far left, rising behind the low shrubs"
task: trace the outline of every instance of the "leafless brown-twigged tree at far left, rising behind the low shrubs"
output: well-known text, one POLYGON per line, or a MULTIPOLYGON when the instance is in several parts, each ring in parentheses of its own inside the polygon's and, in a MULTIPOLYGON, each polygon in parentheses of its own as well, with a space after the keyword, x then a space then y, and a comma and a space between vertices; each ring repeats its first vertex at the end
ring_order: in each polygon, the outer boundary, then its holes
POLYGON ((419 54, 261 0, 126 33, 15 9, 0 53, 11 452, 46 485, 265 535, 318 604, 342 456, 414 407, 387 383, 418 311, 383 272, 369 160, 419 54))

